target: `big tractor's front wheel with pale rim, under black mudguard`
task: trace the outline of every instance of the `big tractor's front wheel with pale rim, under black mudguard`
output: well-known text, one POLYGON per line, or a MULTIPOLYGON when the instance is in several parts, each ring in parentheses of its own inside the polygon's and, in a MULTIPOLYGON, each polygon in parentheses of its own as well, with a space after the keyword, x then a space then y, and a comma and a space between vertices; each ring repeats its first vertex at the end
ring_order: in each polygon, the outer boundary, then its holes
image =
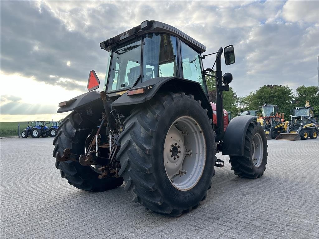
POLYGON ((244 156, 229 156, 234 174, 247 178, 262 176, 266 170, 267 147, 263 128, 255 121, 250 122, 245 136, 244 156))

